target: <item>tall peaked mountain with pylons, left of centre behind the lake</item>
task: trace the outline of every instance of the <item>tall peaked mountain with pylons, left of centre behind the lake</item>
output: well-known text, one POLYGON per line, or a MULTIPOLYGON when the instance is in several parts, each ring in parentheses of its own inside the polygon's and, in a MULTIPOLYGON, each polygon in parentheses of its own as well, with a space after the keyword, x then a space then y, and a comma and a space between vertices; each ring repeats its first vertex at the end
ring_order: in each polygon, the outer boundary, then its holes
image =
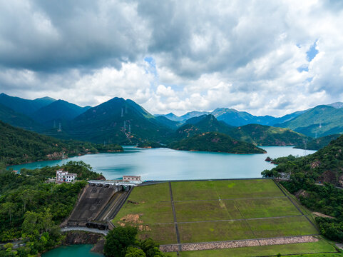
MULTIPOLYGON (((54 136, 94 143, 131 144, 143 140, 163 141, 172 133, 153 115, 134 101, 114 98, 88 109, 73 119, 63 133, 54 136)), ((52 132, 50 133, 52 134, 52 132)))

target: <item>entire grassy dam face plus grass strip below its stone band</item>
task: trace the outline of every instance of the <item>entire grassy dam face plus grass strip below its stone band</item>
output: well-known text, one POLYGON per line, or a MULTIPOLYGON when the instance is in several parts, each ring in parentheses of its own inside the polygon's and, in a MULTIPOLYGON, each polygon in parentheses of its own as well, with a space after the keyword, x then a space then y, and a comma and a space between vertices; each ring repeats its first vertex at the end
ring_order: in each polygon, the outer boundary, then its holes
MULTIPOLYGON (((272 180, 171 182, 180 243, 318 234, 272 180)), ((295 204, 297 200, 292 198, 295 204)), ((302 212, 309 212, 298 206, 302 212)), ((309 217, 312 218, 312 217, 309 217)), ((140 238, 178 243, 169 183, 138 186, 113 223, 132 224, 140 238)), ((181 256, 256 256, 334 251, 326 241, 183 252, 181 256), (255 255, 252 255, 255 254, 255 255)))

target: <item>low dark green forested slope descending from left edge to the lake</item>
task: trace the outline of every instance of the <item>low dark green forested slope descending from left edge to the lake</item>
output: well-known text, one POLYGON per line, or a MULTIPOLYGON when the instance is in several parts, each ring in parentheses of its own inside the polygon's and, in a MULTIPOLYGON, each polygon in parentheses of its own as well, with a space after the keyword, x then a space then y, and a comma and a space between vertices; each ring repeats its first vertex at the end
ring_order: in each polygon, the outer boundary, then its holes
POLYGON ((0 121, 0 162, 6 165, 60 159, 83 153, 123 151, 118 145, 96 145, 57 138, 15 128, 0 121))

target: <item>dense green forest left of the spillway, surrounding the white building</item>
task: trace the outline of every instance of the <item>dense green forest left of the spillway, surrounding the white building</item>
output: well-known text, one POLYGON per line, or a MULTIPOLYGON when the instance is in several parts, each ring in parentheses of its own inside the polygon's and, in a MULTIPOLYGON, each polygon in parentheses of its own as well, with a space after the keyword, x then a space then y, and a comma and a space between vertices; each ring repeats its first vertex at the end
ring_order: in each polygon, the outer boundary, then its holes
POLYGON ((0 168, 0 242, 25 243, 12 251, 7 243, 0 256, 36 256, 61 243, 58 225, 73 210, 78 193, 86 186, 82 179, 99 178, 86 163, 70 161, 63 166, 35 170, 21 169, 21 174, 0 168), (47 183, 58 168, 78 174, 76 183, 47 183))

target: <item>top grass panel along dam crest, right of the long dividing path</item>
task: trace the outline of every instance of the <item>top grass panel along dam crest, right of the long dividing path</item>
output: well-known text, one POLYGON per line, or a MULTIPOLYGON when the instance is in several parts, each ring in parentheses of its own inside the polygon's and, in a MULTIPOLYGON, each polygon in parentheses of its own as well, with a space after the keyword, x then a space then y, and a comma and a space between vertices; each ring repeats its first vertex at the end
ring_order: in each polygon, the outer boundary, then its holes
POLYGON ((172 189, 174 201, 284 196, 272 180, 262 179, 173 182, 172 189))

